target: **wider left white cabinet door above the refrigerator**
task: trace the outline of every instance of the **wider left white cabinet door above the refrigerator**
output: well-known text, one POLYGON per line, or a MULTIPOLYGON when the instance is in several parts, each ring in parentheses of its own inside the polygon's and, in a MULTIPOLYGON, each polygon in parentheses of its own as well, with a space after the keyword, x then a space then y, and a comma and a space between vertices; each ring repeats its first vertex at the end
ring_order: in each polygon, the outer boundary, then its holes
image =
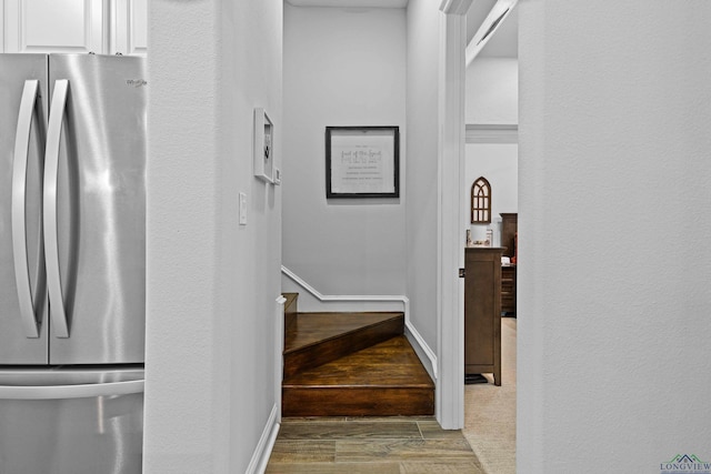
POLYGON ((102 0, 4 0, 4 52, 101 53, 102 0))

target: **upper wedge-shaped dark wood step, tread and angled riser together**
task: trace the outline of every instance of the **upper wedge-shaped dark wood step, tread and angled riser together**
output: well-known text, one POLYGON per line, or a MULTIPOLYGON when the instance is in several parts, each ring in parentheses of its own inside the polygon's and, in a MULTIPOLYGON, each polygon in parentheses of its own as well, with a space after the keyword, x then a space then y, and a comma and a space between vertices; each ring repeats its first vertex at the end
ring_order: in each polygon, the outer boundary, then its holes
POLYGON ((402 334, 401 312, 298 313, 284 335, 284 379, 402 334))

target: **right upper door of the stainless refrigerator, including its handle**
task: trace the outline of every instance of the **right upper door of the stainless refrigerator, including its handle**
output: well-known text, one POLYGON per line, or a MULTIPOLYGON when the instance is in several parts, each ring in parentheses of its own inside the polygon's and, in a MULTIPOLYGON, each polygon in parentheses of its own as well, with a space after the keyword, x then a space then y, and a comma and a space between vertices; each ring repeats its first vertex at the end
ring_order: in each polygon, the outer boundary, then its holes
POLYGON ((43 231, 50 363, 142 363, 143 58, 50 54, 43 231))

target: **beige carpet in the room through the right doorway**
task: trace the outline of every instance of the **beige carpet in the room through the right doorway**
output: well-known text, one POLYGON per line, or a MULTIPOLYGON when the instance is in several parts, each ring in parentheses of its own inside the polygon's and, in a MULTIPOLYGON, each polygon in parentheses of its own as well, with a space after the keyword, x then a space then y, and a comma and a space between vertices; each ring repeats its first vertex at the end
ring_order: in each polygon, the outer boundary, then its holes
POLYGON ((487 474, 515 474, 515 319, 501 319, 501 386, 464 385, 464 437, 487 474))

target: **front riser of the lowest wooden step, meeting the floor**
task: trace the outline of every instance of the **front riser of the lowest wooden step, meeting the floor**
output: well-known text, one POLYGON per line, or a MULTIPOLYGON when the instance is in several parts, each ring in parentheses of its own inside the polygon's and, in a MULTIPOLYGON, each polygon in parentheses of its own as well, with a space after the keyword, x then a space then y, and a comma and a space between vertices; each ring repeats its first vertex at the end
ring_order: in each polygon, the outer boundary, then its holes
POLYGON ((429 416, 432 389, 309 387, 282 391, 283 416, 429 416))

